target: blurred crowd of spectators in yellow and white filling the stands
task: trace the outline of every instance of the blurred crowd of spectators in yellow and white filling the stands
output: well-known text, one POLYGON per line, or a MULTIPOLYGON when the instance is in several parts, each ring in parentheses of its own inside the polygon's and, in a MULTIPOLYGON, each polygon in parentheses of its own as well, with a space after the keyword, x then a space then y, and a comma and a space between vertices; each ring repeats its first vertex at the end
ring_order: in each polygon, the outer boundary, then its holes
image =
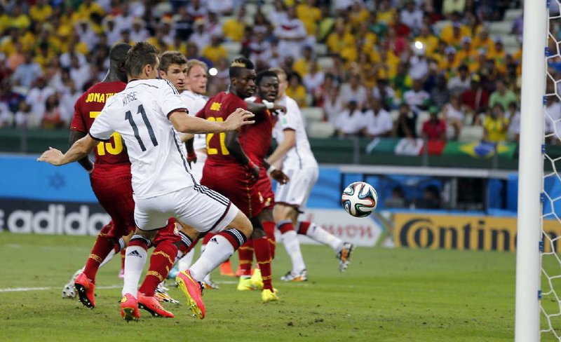
MULTIPOLYGON (((227 89, 236 55, 257 71, 282 67, 288 95, 322 108, 335 135, 461 139, 478 126, 484 140, 515 141, 522 15, 509 22, 506 36, 518 41, 509 50, 487 27, 514 7, 520 2, 0 1, 0 127, 66 128, 75 100, 104 76, 110 46, 149 41, 214 67, 209 95, 227 89), (240 50, 228 50, 231 42, 240 50)), ((550 97, 547 107, 552 132, 561 104, 550 97)))

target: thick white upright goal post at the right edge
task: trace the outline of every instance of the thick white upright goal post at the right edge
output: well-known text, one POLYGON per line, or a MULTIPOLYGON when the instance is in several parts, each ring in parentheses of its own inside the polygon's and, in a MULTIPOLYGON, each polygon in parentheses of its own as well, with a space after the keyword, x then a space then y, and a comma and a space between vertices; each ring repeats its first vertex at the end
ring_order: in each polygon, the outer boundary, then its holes
MULTIPOLYGON (((557 1, 557 0, 550 0, 557 1)), ((540 341, 544 105, 548 3, 524 1, 522 102, 518 165, 515 341, 540 341)))

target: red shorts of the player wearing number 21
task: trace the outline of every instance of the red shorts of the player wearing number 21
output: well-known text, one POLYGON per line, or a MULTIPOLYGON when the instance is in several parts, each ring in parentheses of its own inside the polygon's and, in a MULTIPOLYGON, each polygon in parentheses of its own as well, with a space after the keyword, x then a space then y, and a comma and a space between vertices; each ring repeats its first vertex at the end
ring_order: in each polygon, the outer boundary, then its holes
POLYGON ((241 165, 214 166, 207 162, 201 184, 229 198, 247 217, 256 217, 263 210, 263 197, 241 165))

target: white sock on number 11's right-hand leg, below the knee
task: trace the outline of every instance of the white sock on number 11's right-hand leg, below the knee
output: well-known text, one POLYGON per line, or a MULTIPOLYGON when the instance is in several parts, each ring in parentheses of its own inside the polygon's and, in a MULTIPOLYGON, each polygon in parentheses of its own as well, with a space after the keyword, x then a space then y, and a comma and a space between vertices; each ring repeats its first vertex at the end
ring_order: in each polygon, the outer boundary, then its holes
POLYGON ((201 257, 189 268, 191 277, 198 282, 203 281, 208 273, 234 254, 234 246, 224 236, 215 235, 212 237, 212 241, 207 245, 201 257))

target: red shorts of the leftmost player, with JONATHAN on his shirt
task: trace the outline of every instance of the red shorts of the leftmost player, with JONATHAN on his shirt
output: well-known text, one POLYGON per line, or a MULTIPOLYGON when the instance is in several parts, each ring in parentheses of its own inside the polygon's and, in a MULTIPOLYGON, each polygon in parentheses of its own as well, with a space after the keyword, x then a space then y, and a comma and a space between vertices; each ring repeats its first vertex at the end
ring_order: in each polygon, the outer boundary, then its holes
POLYGON ((95 165, 90 182, 93 193, 111 217, 107 237, 119 239, 135 231, 135 201, 129 164, 95 165))

